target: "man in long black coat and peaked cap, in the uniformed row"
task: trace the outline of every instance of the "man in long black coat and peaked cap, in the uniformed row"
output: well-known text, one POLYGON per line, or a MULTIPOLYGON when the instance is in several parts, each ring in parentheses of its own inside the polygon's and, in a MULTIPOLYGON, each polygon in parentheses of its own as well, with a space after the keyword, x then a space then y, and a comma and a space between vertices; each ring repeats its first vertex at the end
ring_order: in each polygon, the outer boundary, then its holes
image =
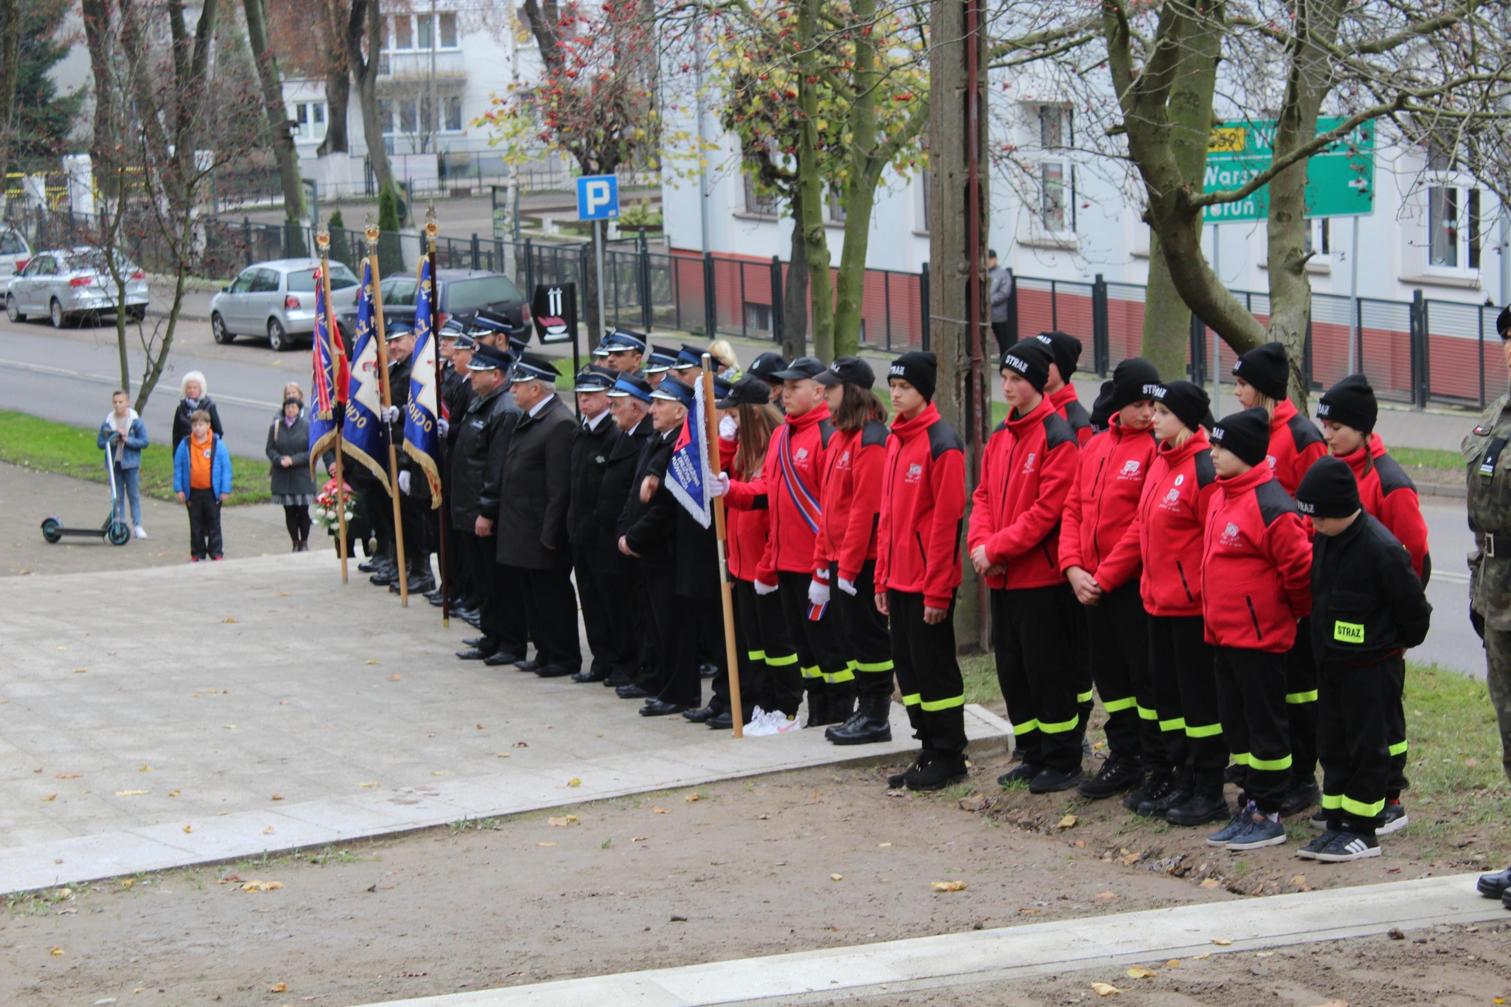
POLYGON ((524 414, 503 459, 499 501, 499 563, 524 587, 535 658, 520 670, 541 678, 582 669, 577 596, 571 586, 567 506, 571 498, 571 442, 577 420, 556 394, 556 365, 523 353, 514 364, 514 405, 524 414))

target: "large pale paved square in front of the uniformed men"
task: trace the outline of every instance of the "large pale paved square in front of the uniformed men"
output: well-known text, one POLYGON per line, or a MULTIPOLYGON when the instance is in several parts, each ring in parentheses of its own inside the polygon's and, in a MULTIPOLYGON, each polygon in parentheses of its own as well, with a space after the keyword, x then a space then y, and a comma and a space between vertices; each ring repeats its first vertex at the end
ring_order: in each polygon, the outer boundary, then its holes
MULTIPOLYGON (((736 741, 458 661, 464 636, 317 553, 0 580, 0 892, 916 746, 898 705, 888 744, 736 741)), ((966 723, 978 752, 1011 735, 966 723)))

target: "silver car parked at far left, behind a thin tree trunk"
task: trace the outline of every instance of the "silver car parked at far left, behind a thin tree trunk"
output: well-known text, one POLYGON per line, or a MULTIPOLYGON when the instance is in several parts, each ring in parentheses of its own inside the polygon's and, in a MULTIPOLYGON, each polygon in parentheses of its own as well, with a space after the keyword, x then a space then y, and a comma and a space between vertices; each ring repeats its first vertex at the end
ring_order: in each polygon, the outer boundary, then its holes
MULTIPOLYGON (((113 314, 116 288, 101 249, 80 245, 71 249, 38 252, 27 261, 6 290, 5 309, 12 322, 29 314, 44 314, 60 329, 86 316, 113 314)), ((119 260, 125 278, 127 317, 141 322, 147 314, 147 273, 127 258, 119 260)))

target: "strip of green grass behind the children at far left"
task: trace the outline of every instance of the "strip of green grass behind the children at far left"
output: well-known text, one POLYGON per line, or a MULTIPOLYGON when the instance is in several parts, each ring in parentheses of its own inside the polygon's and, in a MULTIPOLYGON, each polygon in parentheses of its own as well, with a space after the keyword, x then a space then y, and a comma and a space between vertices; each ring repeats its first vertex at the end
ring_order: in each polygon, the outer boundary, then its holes
MULTIPOLYGON (((104 451, 95 447, 92 429, 71 427, 23 412, 0 411, 0 462, 92 483, 110 482, 104 471, 104 451)), ((270 498, 267 459, 233 457, 231 471, 231 506, 266 503, 270 498)), ((142 451, 139 480, 144 497, 177 500, 174 457, 166 444, 150 444, 142 451)))

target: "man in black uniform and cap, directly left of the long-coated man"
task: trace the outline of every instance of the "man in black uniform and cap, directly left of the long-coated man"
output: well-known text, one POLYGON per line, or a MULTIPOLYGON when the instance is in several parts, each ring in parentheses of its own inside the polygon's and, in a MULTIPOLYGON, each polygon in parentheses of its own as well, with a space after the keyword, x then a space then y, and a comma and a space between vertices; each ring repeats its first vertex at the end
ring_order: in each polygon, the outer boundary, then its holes
POLYGON ((509 394, 514 359, 493 346, 471 350, 467 374, 473 397, 455 418, 456 448, 452 451, 452 527, 467 568, 476 581, 480 637, 467 640, 464 661, 514 664, 524 657, 524 595, 517 580, 506 578, 493 542, 494 515, 503 494, 503 459, 509 453, 520 411, 509 394))

